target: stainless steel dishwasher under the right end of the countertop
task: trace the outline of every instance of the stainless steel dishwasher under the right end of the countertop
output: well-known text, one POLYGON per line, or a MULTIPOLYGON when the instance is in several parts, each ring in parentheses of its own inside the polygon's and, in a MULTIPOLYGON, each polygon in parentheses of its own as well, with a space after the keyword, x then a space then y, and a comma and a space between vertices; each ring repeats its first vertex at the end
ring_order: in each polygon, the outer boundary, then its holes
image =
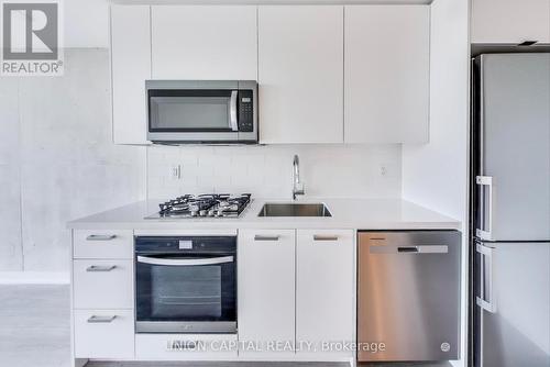
POLYGON ((458 231, 359 232, 358 360, 459 358, 458 231))

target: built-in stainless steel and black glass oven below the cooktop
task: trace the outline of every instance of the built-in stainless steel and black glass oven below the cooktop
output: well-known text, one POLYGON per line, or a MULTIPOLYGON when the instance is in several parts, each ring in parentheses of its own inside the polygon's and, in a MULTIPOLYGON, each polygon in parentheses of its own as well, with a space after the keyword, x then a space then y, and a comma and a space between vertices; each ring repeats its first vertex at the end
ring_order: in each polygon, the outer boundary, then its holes
POLYGON ((136 333, 237 333, 235 236, 136 236, 136 333))

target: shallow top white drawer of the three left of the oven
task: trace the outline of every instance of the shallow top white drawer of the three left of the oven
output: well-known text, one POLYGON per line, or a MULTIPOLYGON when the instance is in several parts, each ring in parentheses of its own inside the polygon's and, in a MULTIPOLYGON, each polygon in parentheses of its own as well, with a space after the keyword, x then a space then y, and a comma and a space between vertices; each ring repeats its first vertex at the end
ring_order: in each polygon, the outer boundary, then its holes
POLYGON ((133 231, 94 230, 74 231, 75 258, 133 257, 133 231))

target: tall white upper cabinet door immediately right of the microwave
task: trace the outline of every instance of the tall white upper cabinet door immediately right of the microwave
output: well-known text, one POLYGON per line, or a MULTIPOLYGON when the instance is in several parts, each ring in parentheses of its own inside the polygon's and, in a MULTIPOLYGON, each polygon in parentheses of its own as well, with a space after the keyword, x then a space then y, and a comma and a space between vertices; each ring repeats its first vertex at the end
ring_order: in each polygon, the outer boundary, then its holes
POLYGON ((261 143, 342 143, 342 7, 258 7, 261 143))

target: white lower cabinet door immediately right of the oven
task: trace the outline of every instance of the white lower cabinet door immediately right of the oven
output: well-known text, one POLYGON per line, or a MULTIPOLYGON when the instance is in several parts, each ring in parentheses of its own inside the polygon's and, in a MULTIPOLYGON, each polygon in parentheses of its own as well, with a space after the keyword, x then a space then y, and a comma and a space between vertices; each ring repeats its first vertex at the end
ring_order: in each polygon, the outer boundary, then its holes
POLYGON ((293 355, 270 343, 295 341, 295 231, 239 231, 239 341, 258 343, 257 358, 293 355))

